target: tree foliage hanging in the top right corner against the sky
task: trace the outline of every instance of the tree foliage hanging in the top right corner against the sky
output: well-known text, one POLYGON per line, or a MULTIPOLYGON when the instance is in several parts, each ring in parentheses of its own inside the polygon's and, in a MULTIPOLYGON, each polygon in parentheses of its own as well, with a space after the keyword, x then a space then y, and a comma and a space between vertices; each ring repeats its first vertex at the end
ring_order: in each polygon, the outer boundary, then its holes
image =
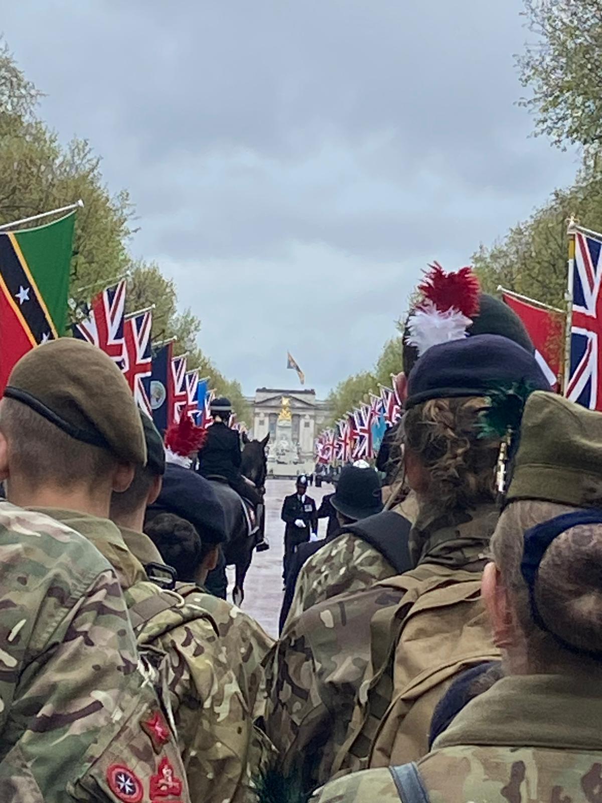
POLYGON ((602 0, 525 0, 536 37, 517 62, 535 131, 555 145, 602 141, 602 0))

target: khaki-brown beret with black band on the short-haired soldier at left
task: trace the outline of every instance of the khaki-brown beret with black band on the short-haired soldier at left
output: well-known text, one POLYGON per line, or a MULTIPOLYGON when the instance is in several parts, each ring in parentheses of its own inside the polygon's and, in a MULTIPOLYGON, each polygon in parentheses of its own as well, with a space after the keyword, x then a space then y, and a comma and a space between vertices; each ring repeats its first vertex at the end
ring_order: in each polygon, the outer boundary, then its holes
POLYGON ((123 373, 96 346, 61 337, 32 349, 10 373, 4 395, 77 441, 124 463, 146 465, 140 414, 123 373))

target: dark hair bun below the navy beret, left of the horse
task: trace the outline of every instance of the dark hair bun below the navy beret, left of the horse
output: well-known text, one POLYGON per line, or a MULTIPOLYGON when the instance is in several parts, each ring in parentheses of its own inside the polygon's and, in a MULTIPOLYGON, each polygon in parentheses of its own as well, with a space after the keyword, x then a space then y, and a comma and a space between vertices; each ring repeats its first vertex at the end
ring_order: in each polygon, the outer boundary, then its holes
POLYGON ((175 513, 158 513, 144 524, 144 532, 182 581, 195 581, 205 555, 215 548, 202 544, 194 525, 175 513))

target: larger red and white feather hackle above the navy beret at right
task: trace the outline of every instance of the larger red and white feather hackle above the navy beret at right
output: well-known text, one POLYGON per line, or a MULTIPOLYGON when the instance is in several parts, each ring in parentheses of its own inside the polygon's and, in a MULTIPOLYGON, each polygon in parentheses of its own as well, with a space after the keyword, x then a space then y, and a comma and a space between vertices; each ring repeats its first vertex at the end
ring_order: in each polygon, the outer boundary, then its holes
POLYGON ((418 356, 431 346, 466 337, 466 329, 478 312, 478 279, 471 267, 445 273, 439 263, 430 265, 418 285, 422 300, 409 316, 407 342, 418 356))

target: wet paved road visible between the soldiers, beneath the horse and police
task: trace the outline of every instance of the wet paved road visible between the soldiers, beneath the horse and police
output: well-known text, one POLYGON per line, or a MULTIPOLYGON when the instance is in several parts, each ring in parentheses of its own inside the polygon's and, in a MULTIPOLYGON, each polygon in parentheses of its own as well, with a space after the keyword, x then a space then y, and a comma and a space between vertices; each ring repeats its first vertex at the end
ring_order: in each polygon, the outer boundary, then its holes
MULTIPOLYGON (((253 563, 246 575, 245 601, 242 608, 262 624, 273 636, 278 635, 278 618, 283 600, 283 553, 284 523, 280 511, 286 495, 294 493, 295 483, 291 479, 269 479, 266 483, 266 536, 270 542, 267 552, 255 553, 253 563)), ((332 493, 332 485, 321 488, 312 487, 308 495, 315 499, 319 507, 324 494, 332 493)), ((319 536, 326 535, 326 519, 319 521, 319 536)), ((231 585, 233 572, 229 570, 231 585)))

